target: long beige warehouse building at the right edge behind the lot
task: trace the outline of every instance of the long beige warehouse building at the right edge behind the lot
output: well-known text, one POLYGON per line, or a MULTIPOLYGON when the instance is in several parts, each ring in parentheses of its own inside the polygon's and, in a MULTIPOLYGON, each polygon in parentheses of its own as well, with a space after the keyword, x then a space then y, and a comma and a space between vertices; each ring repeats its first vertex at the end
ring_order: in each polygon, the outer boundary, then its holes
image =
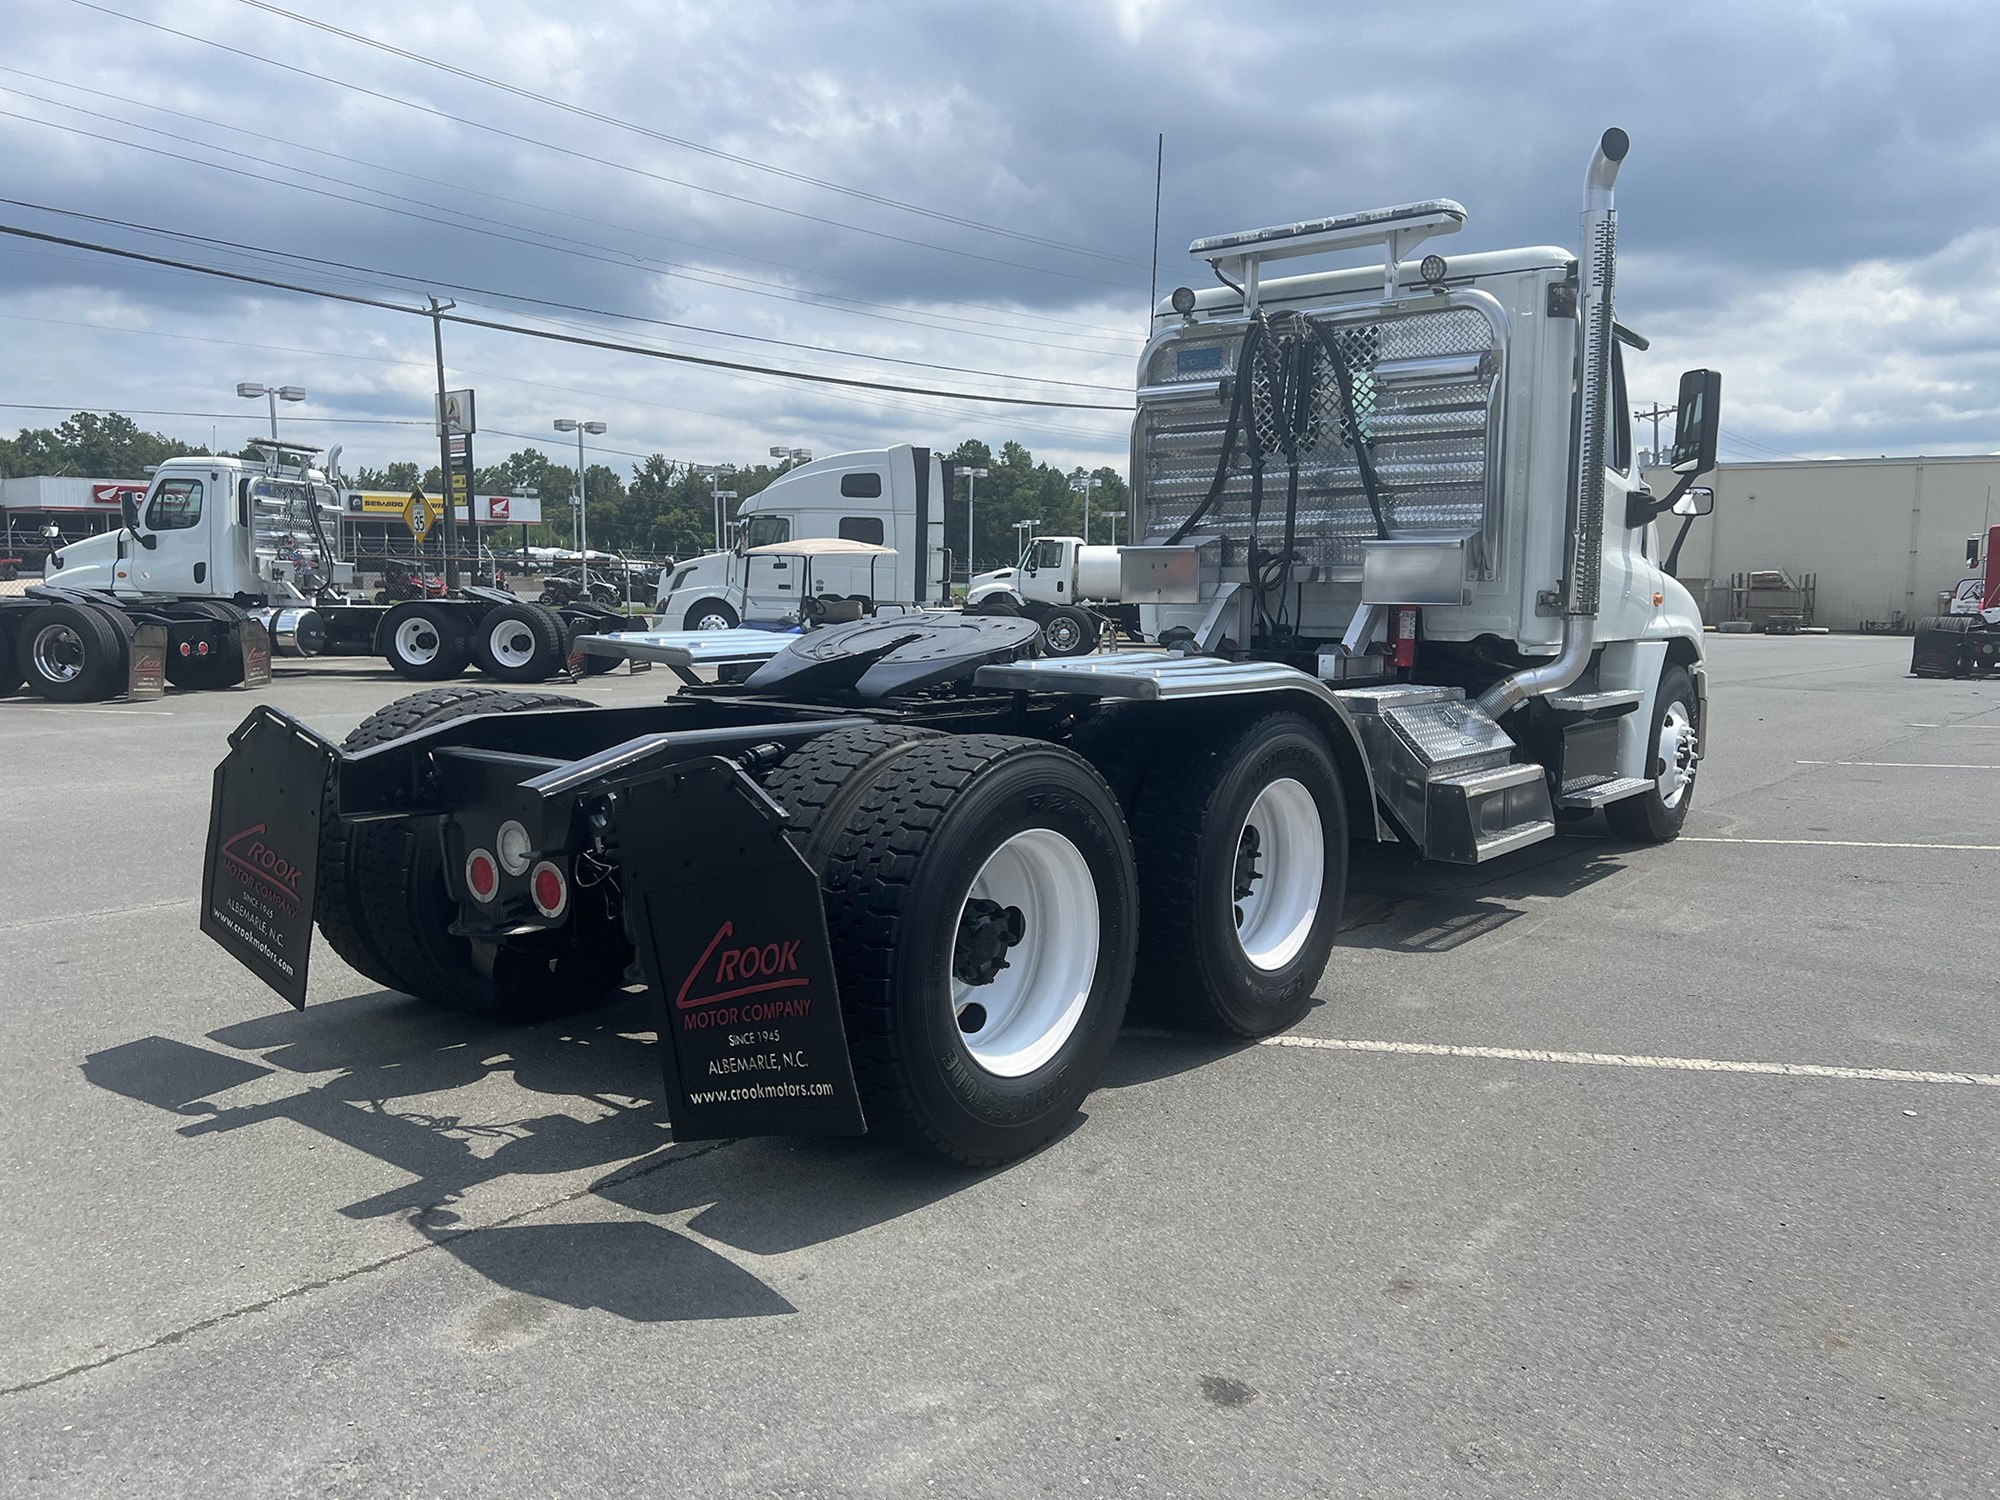
MULTIPOLYGON (((1648 470, 1656 494, 1672 474, 1648 470)), ((1964 578, 1966 542, 2000 520, 2000 454, 1798 458, 1720 464, 1716 510, 1694 522, 1674 572, 1706 604, 1702 580, 1776 568, 1818 574, 1814 624, 1900 628, 1936 614, 1964 578)), ((1662 516, 1662 546, 1680 522, 1662 516)))

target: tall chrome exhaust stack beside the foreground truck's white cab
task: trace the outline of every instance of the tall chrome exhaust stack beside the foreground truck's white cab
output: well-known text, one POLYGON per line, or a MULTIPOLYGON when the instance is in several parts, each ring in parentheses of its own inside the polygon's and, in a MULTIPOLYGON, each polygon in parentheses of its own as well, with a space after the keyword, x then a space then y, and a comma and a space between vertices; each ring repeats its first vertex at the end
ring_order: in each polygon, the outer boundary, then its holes
POLYGON ((1632 140, 1612 126, 1590 156, 1584 176, 1582 246, 1576 312, 1582 338, 1576 468, 1570 474, 1570 556, 1562 598, 1562 650, 1546 666, 1502 678, 1480 694, 1492 718, 1528 698, 1570 686, 1590 664, 1596 638, 1598 584, 1604 574, 1604 454, 1612 400, 1612 280, 1618 274, 1618 208, 1612 184, 1632 140))

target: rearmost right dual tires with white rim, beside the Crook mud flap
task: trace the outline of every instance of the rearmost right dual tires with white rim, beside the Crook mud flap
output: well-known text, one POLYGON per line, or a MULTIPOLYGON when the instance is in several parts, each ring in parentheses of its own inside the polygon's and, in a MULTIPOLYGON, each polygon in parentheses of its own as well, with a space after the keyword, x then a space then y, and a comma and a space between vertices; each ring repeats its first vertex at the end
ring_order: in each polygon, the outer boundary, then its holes
POLYGON ((872 726, 808 742, 766 792, 820 876, 870 1128, 966 1166, 1060 1134, 1138 946, 1104 780, 1042 740, 872 726))

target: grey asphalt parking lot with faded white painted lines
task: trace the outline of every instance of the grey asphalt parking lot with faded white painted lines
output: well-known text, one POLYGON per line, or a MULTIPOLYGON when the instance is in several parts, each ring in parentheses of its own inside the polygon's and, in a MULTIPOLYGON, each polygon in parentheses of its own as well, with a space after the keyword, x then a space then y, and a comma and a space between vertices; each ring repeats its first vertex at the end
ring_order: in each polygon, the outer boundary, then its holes
POLYGON ((1988 1496, 2000 684, 1710 648, 1680 842, 1370 856, 1292 1044, 986 1174, 674 1146, 646 996, 294 1014, 194 926, 248 696, 0 702, 0 1490, 1988 1496))

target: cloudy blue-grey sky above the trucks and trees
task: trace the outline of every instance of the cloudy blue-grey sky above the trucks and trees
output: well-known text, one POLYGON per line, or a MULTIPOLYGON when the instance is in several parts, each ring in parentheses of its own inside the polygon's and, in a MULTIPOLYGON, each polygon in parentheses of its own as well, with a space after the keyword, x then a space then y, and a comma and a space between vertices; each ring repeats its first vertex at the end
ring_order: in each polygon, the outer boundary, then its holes
MULTIPOLYGON (((1186 244, 1412 198, 1572 244, 1606 124, 1634 398, 1724 370, 1724 458, 2000 448, 2000 6, 1428 0, 0 0, 0 224, 396 306, 1000 406, 446 328, 478 458, 1016 438, 1124 468, 1186 244), (346 34, 342 34, 346 32, 346 34), (62 210, 62 212, 56 212, 62 210), (94 218, 92 218, 94 216, 94 218)), ((436 456, 430 326, 0 238, 0 430, 224 444, 240 380, 346 466, 436 456), (36 404, 56 410, 32 410, 36 404), (166 416, 166 412, 218 416, 166 416), (314 420, 304 420, 314 418, 314 420), (330 420, 330 418, 338 418, 330 420)))

